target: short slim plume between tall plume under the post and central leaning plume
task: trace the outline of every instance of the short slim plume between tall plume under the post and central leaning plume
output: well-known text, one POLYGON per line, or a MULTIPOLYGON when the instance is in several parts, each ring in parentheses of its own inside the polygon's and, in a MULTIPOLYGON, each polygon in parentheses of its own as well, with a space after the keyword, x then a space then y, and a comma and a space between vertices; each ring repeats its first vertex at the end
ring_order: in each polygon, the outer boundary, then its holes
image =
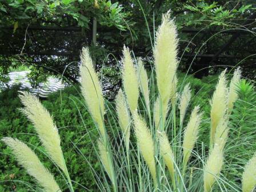
POLYGON ((117 97, 115 98, 115 105, 119 126, 121 127, 123 136, 125 138, 126 146, 129 146, 130 116, 125 102, 125 95, 123 94, 123 91, 121 89, 118 91, 117 97))

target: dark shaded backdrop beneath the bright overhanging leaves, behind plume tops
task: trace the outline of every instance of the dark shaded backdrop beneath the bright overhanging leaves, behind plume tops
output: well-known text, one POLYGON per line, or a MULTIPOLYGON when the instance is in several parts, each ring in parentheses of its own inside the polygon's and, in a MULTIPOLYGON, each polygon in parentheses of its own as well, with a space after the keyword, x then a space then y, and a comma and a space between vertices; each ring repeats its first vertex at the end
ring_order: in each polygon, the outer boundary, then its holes
MULTIPOLYGON (((40 18, 28 22, 23 19, 22 25, 15 30, 14 25, 3 25, 0 22, 0 75, 6 74, 9 66, 17 67, 23 64, 30 67, 30 79, 34 86, 45 81, 49 75, 63 76, 62 79, 66 83, 74 83, 78 81, 80 51, 83 46, 89 46, 90 53, 97 63, 96 70, 102 75, 103 89, 106 93, 115 93, 122 83, 119 77, 119 61, 123 45, 129 46, 135 57, 145 58, 146 66, 150 69, 150 66, 153 66, 150 42, 151 35, 152 45, 154 44, 153 23, 155 27, 158 26, 162 13, 173 7, 172 15, 176 19, 180 40, 181 71, 189 70, 190 74, 202 78, 218 73, 224 67, 231 69, 241 66, 244 76, 255 79, 256 13, 253 9, 241 13, 237 18, 229 20, 227 17, 222 21, 224 24, 213 24, 218 21, 214 18, 211 18, 211 21, 207 17, 198 24, 191 24, 190 22, 205 17, 200 15, 200 10, 197 13, 186 7, 196 5, 194 1, 118 2, 123 6, 123 13, 129 15, 123 18, 122 24, 126 29, 120 30, 115 26, 98 23, 96 45, 92 43, 92 17, 86 21, 86 27, 79 26, 74 18, 66 14, 63 14, 61 21, 40 18), (186 17, 186 14, 193 17, 186 17), (226 25, 225 22, 233 24, 226 25)), ((218 3, 231 11, 251 2, 218 3)), ((201 5, 197 6, 200 8, 201 5)), ((61 11, 59 14, 62 14, 61 11)))

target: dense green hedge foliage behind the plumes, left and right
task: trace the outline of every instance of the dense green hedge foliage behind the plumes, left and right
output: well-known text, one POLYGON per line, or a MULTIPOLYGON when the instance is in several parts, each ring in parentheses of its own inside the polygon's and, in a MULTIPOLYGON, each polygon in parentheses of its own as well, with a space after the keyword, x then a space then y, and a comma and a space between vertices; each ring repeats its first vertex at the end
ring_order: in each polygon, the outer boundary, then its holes
MULTIPOLYGON (((183 79, 185 74, 179 74, 178 76, 179 79, 183 79)), ((204 112, 203 123, 200 130, 201 134, 199 135, 199 141, 204 143, 209 143, 209 98, 213 94, 217 79, 217 76, 210 76, 199 80, 189 75, 187 76, 186 81, 183 82, 190 82, 191 90, 194 95, 188 111, 191 111, 193 106, 200 105, 204 112)), ((179 82, 178 87, 181 87, 181 85, 182 82, 179 82)), ((231 175, 233 175, 232 177, 238 173, 237 169, 242 169, 242 166, 246 163, 241 162, 240 159, 249 159, 253 155, 253 151, 256 150, 256 146, 254 145, 255 142, 253 142, 255 139, 255 130, 253 128, 256 126, 254 120, 254 112, 256 110, 255 90, 254 87, 246 81, 242 81, 241 86, 239 87, 239 100, 235 103, 234 111, 231 115, 233 128, 230 131, 229 144, 226 149, 229 151, 229 154, 226 155, 226 159, 227 162, 230 161, 230 159, 233 159, 232 163, 234 164, 239 162, 238 165, 241 167, 233 167, 231 164, 225 165, 229 168, 231 175), (234 158, 237 154, 239 154, 239 157, 234 158), (230 169, 230 167, 232 169, 230 169)), ((18 90, 19 87, 17 86, 5 90, 0 94, 0 130, 2 136, 16 137, 22 141, 26 141, 32 149, 35 149, 35 153, 39 155, 39 158, 44 162, 44 165, 52 170, 51 172, 54 173, 56 179, 62 179, 59 177, 59 172, 56 167, 50 163, 50 161, 47 161, 45 154, 40 151, 43 150, 43 147, 38 146, 39 139, 35 135, 33 125, 31 125, 19 111, 19 108, 22 107, 22 105, 17 96, 18 90)), ((62 142, 61 145, 65 153, 65 160, 69 166, 68 168, 70 170, 71 178, 93 191, 93 189, 97 189, 97 186, 94 183, 93 177, 91 177, 91 169, 85 159, 74 147, 74 144, 77 145, 83 155, 89 159, 90 163, 93 163, 94 169, 99 169, 97 157, 95 157, 88 138, 88 133, 95 129, 94 123, 89 117, 89 113, 86 111, 86 107, 83 105, 83 101, 80 98, 79 88, 78 86, 74 86, 67 87, 61 92, 58 91, 57 93, 53 93, 49 95, 47 100, 42 102, 46 109, 53 115, 57 127, 59 128, 62 142)), ((140 105, 142 107, 142 103, 140 103, 140 105)), ((188 120, 189 119, 186 118, 185 123, 187 123, 188 120)), ((198 149, 201 148, 201 146, 197 147, 198 149)), ((31 180, 31 177, 22 169, 22 167, 17 165, 14 157, 12 155, 10 156, 10 149, 7 149, 2 142, 0 143, 0 150, 2 155, 0 161, 0 169, 2 170, 2 174, 0 175, 0 189, 2 191, 11 191, 14 189, 22 191, 29 189, 30 185, 27 185, 26 182, 33 184, 33 179, 31 180)), ((74 186, 77 190, 83 190, 81 186, 74 186)))

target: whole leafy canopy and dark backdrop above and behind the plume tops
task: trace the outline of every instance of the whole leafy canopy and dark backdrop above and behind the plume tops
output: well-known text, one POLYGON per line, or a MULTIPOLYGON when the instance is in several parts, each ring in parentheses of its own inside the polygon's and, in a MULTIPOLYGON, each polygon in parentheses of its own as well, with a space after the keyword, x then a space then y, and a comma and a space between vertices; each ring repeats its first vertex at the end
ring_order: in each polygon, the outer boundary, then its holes
POLYGON ((21 65, 29 67, 35 85, 47 75, 63 74, 68 81, 77 81, 81 47, 90 46, 97 69, 105 66, 99 71, 106 78, 115 77, 113 84, 119 85, 117 59, 123 44, 133 49, 136 56, 146 56, 150 61, 155 28, 161 22, 162 13, 170 9, 179 30, 182 70, 189 69, 191 73, 199 70, 196 75, 202 77, 215 73, 218 67, 211 68, 215 65, 239 64, 246 69, 255 62, 253 2, 0 1, 1 81, 7 81, 10 66, 21 65), (94 19, 96 44, 93 43, 94 19))

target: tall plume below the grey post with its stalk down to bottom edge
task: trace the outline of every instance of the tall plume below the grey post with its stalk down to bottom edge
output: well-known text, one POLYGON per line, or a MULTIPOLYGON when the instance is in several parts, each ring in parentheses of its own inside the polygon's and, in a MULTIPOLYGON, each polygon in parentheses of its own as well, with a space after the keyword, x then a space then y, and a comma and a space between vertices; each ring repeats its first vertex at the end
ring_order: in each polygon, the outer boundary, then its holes
POLYGON ((98 142, 99 152, 102 160, 102 163, 107 162, 109 167, 111 168, 111 174, 106 169, 106 165, 104 165, 108 175, 113 184, 113 190, 117 191, 117 183, 114 178, 114 167, 113 167, 113 159, 111 157, 111 151, 107 133, 105 130, 105 125, 103 122, 104 114, 105 114, 105 106, 104 106, 104 98, 102 94, 101 83, 99 83, 99 79, 93 67, 93 61, 90 57, 89 49, 83 48, 81 54, 82 65, 80 66, 80 75, 81 75, 81 90, 83 97, 85 98, 87 107, 93 117, 94 121, 98 125, 99 133, 101 134, 101 142, 98 142), (99 144, 101 143, 101 144, 99 144), (105 161, 107 160, 107 161, 105 161))

